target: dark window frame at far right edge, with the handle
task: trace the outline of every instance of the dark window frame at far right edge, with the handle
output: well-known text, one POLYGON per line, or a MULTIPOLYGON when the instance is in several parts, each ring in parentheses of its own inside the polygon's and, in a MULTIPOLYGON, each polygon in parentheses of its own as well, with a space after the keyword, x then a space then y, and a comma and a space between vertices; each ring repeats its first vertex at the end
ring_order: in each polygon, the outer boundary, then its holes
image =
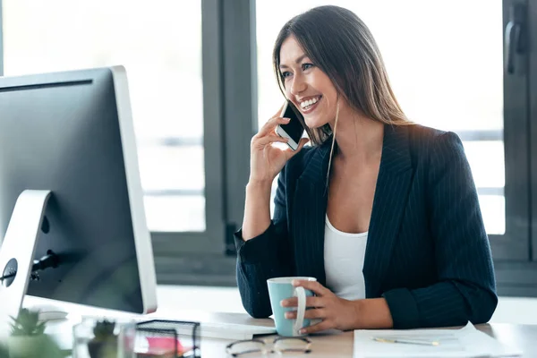
MULTIPOLYGON (((537 296, 537 0, 504 0, 503 29, 513 4, 525 5, 525 50, 516 72, 504 68, 506 234, 490 235, 499 295, 537 296), (510 223, 510 224, 509 224, 510 223), (525 238, 525 239, 524 239, 525 238)), ((504 48, 504 67, 506 57, 504 48)))

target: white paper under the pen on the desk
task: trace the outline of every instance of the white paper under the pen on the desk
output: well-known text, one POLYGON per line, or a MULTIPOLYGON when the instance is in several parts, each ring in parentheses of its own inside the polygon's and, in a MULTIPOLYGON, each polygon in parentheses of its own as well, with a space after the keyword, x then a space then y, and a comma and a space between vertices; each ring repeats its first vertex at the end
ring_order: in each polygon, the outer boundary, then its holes
POLYGON ((429 358, 514 357, 522 353, 501 345, 498 340, 480 332, 468 322, 460 329, 407 329, 354 331, 354 358, 398 358, 401 356, 429 358), (373 337, 387 339, 419 339, 438 341, 439 345, 413 345, 377 342, 373 337))

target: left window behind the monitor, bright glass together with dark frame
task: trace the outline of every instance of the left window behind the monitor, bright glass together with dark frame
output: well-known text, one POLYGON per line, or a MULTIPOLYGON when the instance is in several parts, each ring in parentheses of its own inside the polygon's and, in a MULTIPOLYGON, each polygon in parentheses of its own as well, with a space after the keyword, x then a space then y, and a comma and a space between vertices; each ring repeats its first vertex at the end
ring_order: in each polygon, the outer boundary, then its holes
POLYGON ((251 1, 0 0, 0 10, 0 74, 125 66, 158 283, 233 286, 257 123, 243 71, 255 67, 251 1))

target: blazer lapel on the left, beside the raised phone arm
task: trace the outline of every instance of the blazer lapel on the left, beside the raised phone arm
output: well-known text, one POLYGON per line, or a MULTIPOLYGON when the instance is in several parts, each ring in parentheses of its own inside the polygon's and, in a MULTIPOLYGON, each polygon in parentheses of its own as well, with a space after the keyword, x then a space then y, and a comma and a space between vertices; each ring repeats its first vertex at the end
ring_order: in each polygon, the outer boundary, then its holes
POLYGON ((327 173, 331 139, 313 153, 294 191, 290 231, 294 237, 296 275, 316 277, 326 286, 324 268, 324 228, 327 212, 327 173))

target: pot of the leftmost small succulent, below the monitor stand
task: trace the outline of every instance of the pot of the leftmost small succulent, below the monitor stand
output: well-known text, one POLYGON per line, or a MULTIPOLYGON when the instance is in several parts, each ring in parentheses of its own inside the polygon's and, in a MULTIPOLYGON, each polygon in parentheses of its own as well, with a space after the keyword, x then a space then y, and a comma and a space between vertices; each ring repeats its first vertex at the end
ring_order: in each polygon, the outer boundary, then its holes
POLYGON ((60 358, 62 351, 48 335, 12 336, 7 340, 10 358, 60 358))

